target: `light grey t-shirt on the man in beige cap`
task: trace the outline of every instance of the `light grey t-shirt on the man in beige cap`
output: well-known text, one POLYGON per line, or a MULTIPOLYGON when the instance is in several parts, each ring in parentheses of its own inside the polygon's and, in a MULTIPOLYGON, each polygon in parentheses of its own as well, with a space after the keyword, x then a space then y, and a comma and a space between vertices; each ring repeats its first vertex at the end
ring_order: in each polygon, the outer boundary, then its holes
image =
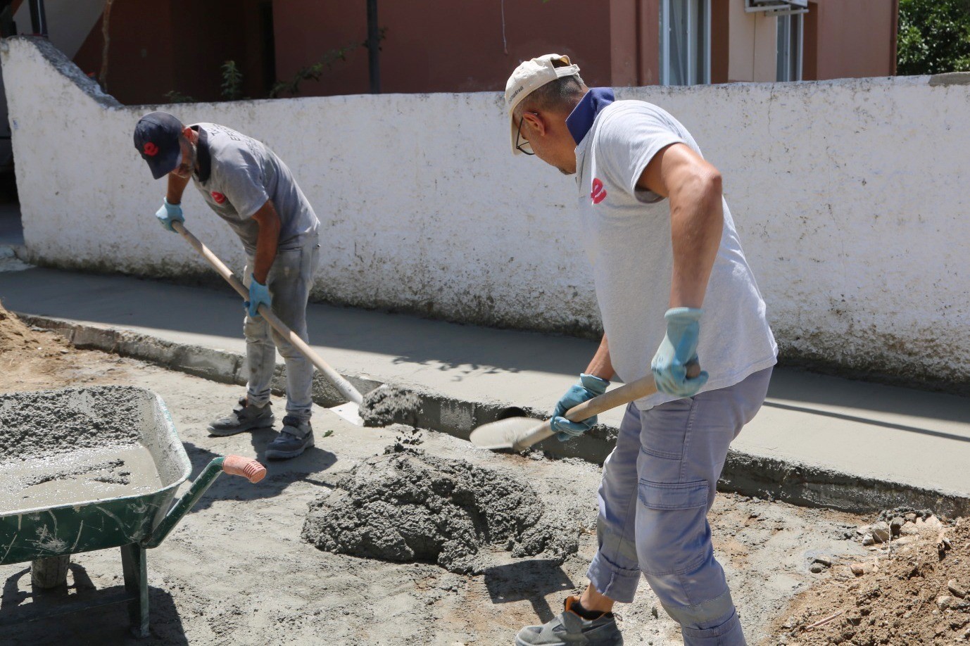
MULTIPOLYGON (((626 382, 650 374, 666 333, 673 248, 670 208, 656 193, 636 188, 663 147, 694 138, 673 116, 644 101, 616 101, 598 113, 576 146, 576 183, 586 251, 610 356, 626 382)), ((704 296, 697 357, 710 379, 701 392, 726 388, 776 363, 778 346, 764 301, 748 267, 727 202, 724 233, 704 296)), ((637 400, 646 410, 678 399, 657 393, 637 400)))

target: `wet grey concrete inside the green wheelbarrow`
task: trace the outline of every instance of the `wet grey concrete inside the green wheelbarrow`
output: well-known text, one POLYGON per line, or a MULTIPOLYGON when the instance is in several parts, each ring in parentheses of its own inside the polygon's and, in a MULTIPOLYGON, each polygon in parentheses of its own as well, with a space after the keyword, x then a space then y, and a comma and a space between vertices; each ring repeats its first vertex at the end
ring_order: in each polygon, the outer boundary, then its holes
POLYGON ((0 395, 0 513, 160 489, 142 401, 124 386, 0 395))

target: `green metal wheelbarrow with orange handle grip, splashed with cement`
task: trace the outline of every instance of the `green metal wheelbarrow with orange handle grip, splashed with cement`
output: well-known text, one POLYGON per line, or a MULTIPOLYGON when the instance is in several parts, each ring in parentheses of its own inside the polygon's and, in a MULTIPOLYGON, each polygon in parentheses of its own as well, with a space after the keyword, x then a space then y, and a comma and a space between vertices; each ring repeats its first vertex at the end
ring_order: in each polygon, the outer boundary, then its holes
MULTIPOLYGON (((106 595, 93 602, 79 602, 78 607, 65 603, 43 615, 34 613, 36 616, 17 617, 14 621, 31 621, 127 600, 130 603, 132 630, 146 636, 148 595, 145 550, 157 547, 172 532, 220 472, 243 475, 250 482, 258 482, 266 474, 266 468, 254 460, 239 456, 217 457, 173 504, 178 487, 191 474, 192 465, 161 397, 144 388, 121 386, 69 388, 30 395, 60 398, 58 401, 66 397, 69 401, 77 401, 79 408, 95 420, 99 407, 112 406, 117 398, 136 404, 138 423, 133 433, 137 437, 133 438, 150 454, 161 486, 132 495, 67 501, 33 508, 0 509, 0 565, 30 561, 36 568, 59 561, 66 567, 67 557, 71 554, 121 548, 124 594, 106 595)), ((10 404, 4 401, 10 397, 0 395, 0 406, 10 404)), ((0 427, 0 433, 13 431, 16 430, 0 427)), ((66 576, 66 571, 63 575, 66 576)), ((34 580, 36 584, 36 577, 34 580)), ((29 606, 25 610, 29 610, 29 606)), ((14 621, 0 614, 0 626, 14 621)))

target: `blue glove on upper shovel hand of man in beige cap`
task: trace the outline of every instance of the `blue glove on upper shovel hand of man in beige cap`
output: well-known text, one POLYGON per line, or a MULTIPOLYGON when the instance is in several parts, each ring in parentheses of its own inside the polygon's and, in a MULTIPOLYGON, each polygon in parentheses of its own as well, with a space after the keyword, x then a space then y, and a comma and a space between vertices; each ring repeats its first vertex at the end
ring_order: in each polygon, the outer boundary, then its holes
POLYGON ((704 371, 693 379, 687 377, 687 365, 697 361, 697 336, 702 313, 702 309, 695 307, 671 307, 663 314, 667 333, 654 360, 650 362, 660 392, 681 398, 694 397, 707 383, 707 372, 704 371))

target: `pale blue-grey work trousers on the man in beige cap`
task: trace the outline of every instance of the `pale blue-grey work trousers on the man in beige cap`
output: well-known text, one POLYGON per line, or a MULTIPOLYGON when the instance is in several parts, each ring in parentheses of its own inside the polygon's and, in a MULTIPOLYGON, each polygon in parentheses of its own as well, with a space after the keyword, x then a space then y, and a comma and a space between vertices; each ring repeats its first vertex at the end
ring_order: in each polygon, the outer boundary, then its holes
POLYGON ((760 409, 771 371, 649 410, 630 404, 603 465, 590 581, 630 603, 642 572, 687 646, 746 643, 707 512, 727 446, 760 409))

